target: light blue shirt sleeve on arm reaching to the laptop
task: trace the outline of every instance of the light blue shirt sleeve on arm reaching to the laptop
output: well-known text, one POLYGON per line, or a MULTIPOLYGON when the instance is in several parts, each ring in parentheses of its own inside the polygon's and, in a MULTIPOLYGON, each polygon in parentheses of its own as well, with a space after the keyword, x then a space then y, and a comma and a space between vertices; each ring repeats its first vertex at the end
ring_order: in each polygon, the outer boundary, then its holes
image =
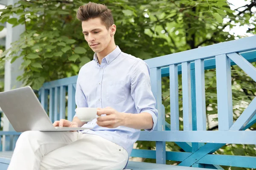
MULTIPOLYGON (((77 108, 83 108, 83 107, 87 108, 88 103, 87 103, 87 99, 86 99, 84 92, 82 91, 82 88, 80 85, 80 77, 81 77, 81 74, 79 73, 77 81, 76 81, 76 95, 75 95, 76 107, 77 108)), ((75 116, 76 116, 76 114, 75 114, 75 116)))

